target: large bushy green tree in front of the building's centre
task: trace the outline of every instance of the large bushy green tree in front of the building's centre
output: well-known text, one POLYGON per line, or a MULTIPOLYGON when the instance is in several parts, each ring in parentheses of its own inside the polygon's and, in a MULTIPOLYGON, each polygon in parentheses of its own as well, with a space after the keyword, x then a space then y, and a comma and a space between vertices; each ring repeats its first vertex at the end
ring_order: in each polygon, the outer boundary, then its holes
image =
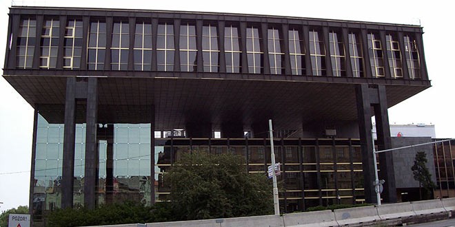
POLYGON ((268 215, 273 213, 272 182, 247 173, 244 158, 232 154, 184 154, 165 175, 179 220, 268 215))

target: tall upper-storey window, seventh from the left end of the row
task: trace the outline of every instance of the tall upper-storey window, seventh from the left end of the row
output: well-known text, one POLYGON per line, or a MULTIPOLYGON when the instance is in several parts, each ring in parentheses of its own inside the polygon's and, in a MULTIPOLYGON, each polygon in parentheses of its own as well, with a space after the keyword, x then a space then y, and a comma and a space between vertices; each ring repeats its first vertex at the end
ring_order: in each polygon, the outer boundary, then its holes
POLYGON ((174 70, 174 25, 160 23, 156 41, 156 62, 159 71, 174 70))

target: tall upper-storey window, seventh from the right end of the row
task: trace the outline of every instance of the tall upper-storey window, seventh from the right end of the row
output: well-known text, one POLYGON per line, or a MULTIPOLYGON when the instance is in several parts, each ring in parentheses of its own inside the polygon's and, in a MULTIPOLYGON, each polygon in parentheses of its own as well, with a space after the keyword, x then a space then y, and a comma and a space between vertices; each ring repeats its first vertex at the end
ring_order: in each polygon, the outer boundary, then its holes
POLYGON ((301 39, 301 32, 292 28, 288 34, 292 75, 302 75, 305 72, 305 45, 301 39))

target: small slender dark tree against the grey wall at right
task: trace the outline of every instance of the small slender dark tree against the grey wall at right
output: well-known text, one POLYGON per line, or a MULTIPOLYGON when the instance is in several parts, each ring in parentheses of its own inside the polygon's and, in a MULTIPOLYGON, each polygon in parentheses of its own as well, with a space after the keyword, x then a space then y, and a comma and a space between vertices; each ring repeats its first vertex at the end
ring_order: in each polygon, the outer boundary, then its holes
POLYGON ((436 188, 436 184, 432 181, 432 174, 429 173, 427 168, 427 155, 424 151, 418 151, 416 158, 414 159, 414 165, 411 167, 412 173, 414 174, 414 180, 418 181, 418 194, 422 199, 422 187, 428 193, 431 193, 433 188, 436 188))

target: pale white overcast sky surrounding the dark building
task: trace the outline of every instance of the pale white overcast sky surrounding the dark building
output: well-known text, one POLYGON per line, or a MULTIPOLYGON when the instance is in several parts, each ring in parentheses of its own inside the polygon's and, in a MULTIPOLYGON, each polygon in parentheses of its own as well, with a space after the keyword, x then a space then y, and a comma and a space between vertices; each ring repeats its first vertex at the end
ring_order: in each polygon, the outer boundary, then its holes
MULTIPOLYGON (((75 6, 88 8, 136 8, 235 12, 294 17, 343 19, 423 26, 423 41, 431 88, 389 109, 390 124, 434 124, 437 138, 455 138, 454 85, 452 67, 455 29, 451 1, 117 1, 42 0, 19 1, 14 5, 75 6)), ((0 0, 0 63, 3 66, 8 36, 8 7, 0 0)), ((3 67, 2 67, 3 68, 3 67)), ((3 72, 2 72, 3 74, 3 72)), ((0 78, 0 211, 28 205, 33 109, 0 78)))

